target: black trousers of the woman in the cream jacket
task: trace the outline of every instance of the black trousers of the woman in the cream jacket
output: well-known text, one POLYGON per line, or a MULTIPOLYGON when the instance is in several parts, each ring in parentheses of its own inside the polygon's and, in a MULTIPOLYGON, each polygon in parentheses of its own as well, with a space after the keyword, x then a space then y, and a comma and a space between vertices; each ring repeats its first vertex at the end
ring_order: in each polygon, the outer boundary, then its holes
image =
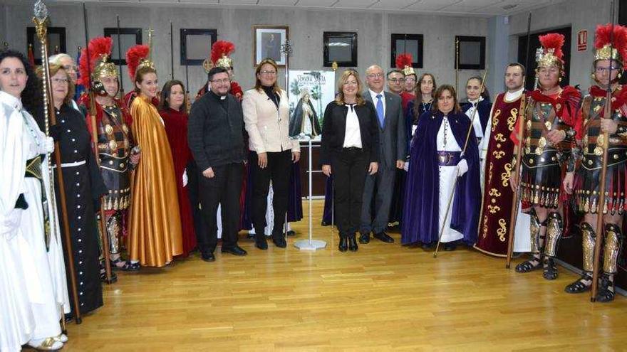
POLYGON ((272 208, 274 210, 274 227, 272 236, 283 236, 283 225, 287 213, 289 196, 289 177, 291 173, 291 151, 279 151, 266 153, 268 164, 264 169, 259 167, 259 156, 251 153, 252 173, 254 177, 252 193, 252 221, 257 235, 264 234, 266 227, 266 210, 268 208, 268 191, 272 181, 272 208))

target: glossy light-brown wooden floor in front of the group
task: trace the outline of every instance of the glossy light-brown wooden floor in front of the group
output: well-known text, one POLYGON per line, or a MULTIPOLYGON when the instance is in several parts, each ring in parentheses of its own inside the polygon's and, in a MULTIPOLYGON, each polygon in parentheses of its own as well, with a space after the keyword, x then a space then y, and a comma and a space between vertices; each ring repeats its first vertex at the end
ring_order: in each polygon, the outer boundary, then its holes
MULTIPOLYGON (((289 247, 202 262, 196 252, 162 270, 119 273, 105 306, 70 324, 64 351, 625 351, 627 305, 591 304, 564 293, 576 275, 560 268, 517 274, 470 249, 432 252, 378 240, 338 252, 289 247), (539 350, 539 347, 549 348, 539 350)), ((304 211, 306 203, 304 203, 304 211)), ((519 261, 519 260, 517 260, 519 261)))

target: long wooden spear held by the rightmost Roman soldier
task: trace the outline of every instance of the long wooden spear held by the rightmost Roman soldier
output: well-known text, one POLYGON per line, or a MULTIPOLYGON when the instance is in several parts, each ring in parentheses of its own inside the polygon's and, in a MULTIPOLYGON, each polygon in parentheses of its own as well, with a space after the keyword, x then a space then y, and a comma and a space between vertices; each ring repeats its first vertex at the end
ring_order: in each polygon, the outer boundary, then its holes
MULTIPOLYGON (((608 72, 608 86, 605 99, 605 107, 603 110, 603 119, 611 119, 612 113, 612 51, 613 51, 613 37, 614 37, 614 1, 611 5, 611 17, 612 28, 610 31, 610 67, 608 72)), ((602 143, 598 142, 597 145, 603 149, 603 155, 601 156, 601 179, 598 180, 598 202, 596 203, 596 245, 594 247, 594 259, 592 261, 592 289, 590 290, 590 302, 596 302, 596 292, 598 291, 598 262, 601 259, 601 246, 603 245, 603 210, 605 209, 605 186, 607 175, 607 159, 608 159, 608 132, 601 134, 603 137, 602 143), (599 145, 601 144, 601 145, 599 145)))

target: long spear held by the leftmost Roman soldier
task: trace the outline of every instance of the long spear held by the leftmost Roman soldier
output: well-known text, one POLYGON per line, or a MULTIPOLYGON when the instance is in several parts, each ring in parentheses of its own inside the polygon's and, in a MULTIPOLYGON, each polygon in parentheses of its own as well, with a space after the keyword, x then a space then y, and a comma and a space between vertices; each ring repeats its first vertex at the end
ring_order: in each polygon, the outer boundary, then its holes
MULTIPOLYGON (((85 7, 85 3, 83 3, 83 25, 85 26, 85 50, 87 55, 87 72, 88 72, 88 116, 86 119, 88 120, 91 128, 91 136, 92 136, 92 144, 93 144, 93 152, 95 157, 96 164, 98 165, 98 170, 100 170, 100 157, 98 156, 100 152, 98 151, 98 129, 96 128, 96 108, 95 108, 95 97, 93 93, 93 82, 91 80, 91 62, 90 62, 90 53, 89 53, 89 31, 88 31, 88 21, 87 21, 87 9, 85 7)), ((119 37, 118 37, 119 43, 119 37)), ((119 45, 118 45, 119 50, 119 45)), ((111 273, 111 261, 110 261, 110 253, 109 253, 109 236, 107 232, 107 228, 105 226, 105 210, 104 210, 104 201, 100 200, 100 208, 98 209, 98 214, 100 215, 100 221, 98 225, 100 227, 100 236, 103 242, 103 257, 105 259, 105 276, 106 282, 108 284, 113 283, 113 274, 111 273)))

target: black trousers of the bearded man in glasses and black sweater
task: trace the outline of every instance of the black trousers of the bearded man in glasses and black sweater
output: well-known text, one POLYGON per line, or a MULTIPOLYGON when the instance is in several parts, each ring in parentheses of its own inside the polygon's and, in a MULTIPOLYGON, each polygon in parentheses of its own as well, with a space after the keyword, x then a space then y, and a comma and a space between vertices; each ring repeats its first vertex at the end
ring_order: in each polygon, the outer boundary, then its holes
POLYGON ((242 191, 244 164, 232 163, 214 166, 214 176, 207 178, 198 171, 200 204, 206 225, 196 233, 201 252, 213 252, 217 245, 217 210, 222 204, 222 249, 237 245, 239 230, 239 193, 242 191))

